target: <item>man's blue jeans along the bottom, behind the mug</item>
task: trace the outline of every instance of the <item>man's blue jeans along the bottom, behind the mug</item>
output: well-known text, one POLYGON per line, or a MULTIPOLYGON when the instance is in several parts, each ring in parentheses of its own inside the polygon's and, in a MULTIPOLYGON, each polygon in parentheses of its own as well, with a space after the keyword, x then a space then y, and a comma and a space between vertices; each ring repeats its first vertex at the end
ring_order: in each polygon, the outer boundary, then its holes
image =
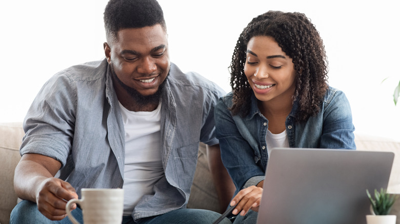
MULTIPOLYGON (((83 223, 82 210, 76 208, 72 211, 73 216, 77 221, 83 223)), ((221 214, 202 209, 178 209, 166 214, 142 218, 138 224, 207 224, 213 223, 221 214)), ((49 223, 49 224, 70 224, 72 223, 68 217, 60 221, 51 221, 46 218, 32 201, 23 200, 18 203, 11 212, 10 224, 25 224, 25 223, 49 223)), ((123 224, 136 224, 131 216, 123 217, 123 224)), ((232 222, 225 218, 219 222, 221 224, 231 224, 232 222)))

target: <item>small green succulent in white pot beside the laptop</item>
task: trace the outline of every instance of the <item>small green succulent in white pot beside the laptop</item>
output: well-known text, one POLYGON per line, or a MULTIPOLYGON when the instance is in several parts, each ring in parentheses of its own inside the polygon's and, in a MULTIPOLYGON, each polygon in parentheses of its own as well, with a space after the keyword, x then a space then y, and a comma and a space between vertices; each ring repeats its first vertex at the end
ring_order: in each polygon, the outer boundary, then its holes
POLYGON ((367 224, 395 224, 396 216, 389 215, 389 212, 398 196, 387 193, 383 188, 380 192, 375 189, 375 199, 372 198, 368 189, 367 195, 371 201, 372 213, 372 215, 367 215, 367 224))

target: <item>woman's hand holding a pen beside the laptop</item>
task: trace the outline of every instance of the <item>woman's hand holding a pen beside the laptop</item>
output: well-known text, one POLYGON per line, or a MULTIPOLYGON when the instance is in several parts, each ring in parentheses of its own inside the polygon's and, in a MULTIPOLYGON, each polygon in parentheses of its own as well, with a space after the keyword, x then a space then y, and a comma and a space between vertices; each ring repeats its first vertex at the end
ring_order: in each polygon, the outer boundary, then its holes
MULTIPOLYGON (((258 183, 257 186, 263 186, 263 183, 264 181, 258 183)), ((240 212, 240 215, 244 216, 250 209, 258 212, 263 188, 257 186, 250 186, 236 194, 230 204, 231 206, 236 205, 236 208, 232 211, 233 215, 237 215, 240 212)))

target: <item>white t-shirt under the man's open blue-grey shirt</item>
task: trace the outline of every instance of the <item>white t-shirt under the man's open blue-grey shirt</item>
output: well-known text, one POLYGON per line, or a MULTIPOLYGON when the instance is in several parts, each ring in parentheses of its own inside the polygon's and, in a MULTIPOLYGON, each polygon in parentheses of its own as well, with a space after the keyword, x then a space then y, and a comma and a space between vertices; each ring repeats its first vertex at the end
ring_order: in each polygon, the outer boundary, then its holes
POLYGON ((124 215, 131 215, 139 199, 153 194, 164 174, 161 159, 161 102, 153 111, 130 111, 119 103, 125 127, 124 215))

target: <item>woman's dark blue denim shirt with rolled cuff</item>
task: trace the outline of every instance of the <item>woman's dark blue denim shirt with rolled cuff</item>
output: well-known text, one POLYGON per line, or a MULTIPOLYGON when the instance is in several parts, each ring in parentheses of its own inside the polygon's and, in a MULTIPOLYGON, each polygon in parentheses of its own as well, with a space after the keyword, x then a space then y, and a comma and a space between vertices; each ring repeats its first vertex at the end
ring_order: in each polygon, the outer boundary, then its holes
MULTIPOLYGON (((219 99, 215 125, 222 161, 237 193, 264 180, 268 163, 268 120, 259 111, 254 94, 250 113, 246 117, 232 116, 228 109, 232 106, 232 96, 229 93, 219 99)), ((295 102, 285 122, 289 147, 355 149, 350 104, 343 92, 329 87, 319 105, 319 113, 305 122, 296 122, 297 107, 295 102)))

